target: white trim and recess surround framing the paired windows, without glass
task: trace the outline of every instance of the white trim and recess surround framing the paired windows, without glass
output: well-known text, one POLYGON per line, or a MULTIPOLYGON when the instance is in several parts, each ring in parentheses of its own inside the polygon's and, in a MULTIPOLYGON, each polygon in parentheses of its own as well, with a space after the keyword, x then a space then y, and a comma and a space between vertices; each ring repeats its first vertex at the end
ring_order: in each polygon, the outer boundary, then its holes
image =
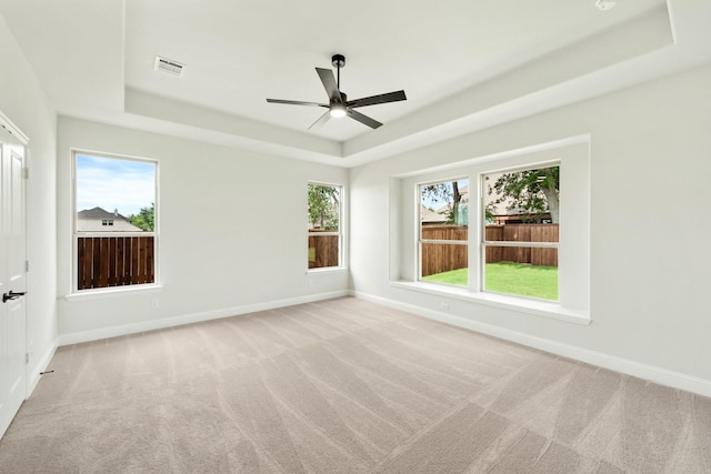
MULTIPOLYGON (((409 173, 399 180, 401 186, 395 203, 402 210, 403 232, 393 232, 402 244, 402 253, 395 256, 394 274, 390 284, 393 288, 428 293, 441 297, 450 297, 488 306, 503 307, 511 311, 535 314, 560 321, 578 324, 590 324, 590 143, 589 137, 575 141, 568 141, 551 145, 542 151, 500 153, 495 157, 483 157, 468 160, 458 165, 447 167, 447 171, 423 171, 421 174, 409 173), (481 177, 501 170, 532 169, 549 164, 561 164, 561 215, 565 218, 565 228, 561 228, 559 246, 559 301, 548 302, 525 296, 507 295, 494 292, 482 292, 481 271, 470 271, 469 288, 445 285, 419 281, 419 198, 410 200, 417 194, 418 186, 428 182, 447 181, 449 177, 470 177, 470 201, 474 193, 472 183, 481 189, 481 177), (473 179, 477 179, 474 181, 473 179), (414 203, 414 206, 409 205, 414 203), (417 208, 417 209, 414 209, 417 208), (571 210, 575 210, 572 211, 571 210), (409 211, 409 212, 408 212, 409 211), (412 219, 415 232, 408 234, 407 222, 412 219), (580 249, 584 249, 581 251, 580 249), (412 259, 412 260, 411 260, 412 259), (414 264, 412 264, 414 262, 414 264), (562 274, 562 278, 561 278, 562 274)), ((479 191, 479 190, 477 190, 479 191)), ((471 204, 471 203, 470 203, 471 204)), ((469 266, 481 269, 482 260, 482 229, 483 225, 471 226, 471 222, 483 222, 481 206, 469 208, 469 266)), ((397 212, 394 212, 397 214, 397 212)), ((391 244, 391 250, 399 245, 391 244)), ((517 246, 521 246, 517 243, 517 246)), ((392 266, 391 266, 392 269, 392 266)))

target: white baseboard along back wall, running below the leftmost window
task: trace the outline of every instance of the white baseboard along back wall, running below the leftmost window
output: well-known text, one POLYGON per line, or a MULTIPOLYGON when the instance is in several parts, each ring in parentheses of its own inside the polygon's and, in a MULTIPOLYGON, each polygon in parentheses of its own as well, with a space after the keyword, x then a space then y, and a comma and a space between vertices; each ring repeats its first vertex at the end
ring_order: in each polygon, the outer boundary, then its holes
POLYGON ((309 294, 304 296, 288 297, 283 300, 267 301, 263 303, 247 304, 242 306, 226 307, 200 313, 182 314, 161 320, 144 321, 120 326, 101 327, 92 331, 82 331, 71 334, 60 334, 58 345, 79 344, 82 342, 99 341, 102 339, 118 337, 127 334, 136 334, 146 331, 160 330, 164 327, 179 326, 183 324, 199 323, 202 321, 219 320, 222 317, 238 316, 241 314, 256 313, 259 311, 276 310, 278 307, 293 306, 296 304, 311 303, 314 301, 330 300, 333 297, 349 296, 348 290, 329 293, 309 294))

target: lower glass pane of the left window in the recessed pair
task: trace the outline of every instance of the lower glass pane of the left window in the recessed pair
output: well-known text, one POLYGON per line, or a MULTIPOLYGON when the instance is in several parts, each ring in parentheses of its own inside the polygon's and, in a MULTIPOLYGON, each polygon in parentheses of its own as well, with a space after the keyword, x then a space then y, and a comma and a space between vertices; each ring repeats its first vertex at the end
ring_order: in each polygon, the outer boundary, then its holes
POLYGON ((469 284, 468 245, 422 243, 422 281, 459 286, 469 284))

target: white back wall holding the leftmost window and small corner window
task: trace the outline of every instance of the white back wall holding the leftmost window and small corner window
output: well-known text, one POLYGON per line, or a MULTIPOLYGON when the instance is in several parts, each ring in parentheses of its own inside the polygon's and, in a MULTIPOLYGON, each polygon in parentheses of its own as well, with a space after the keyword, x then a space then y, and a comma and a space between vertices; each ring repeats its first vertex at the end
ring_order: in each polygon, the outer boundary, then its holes
POLYGON ((64 117, 57 163, 60 343, 348 292, 347 271, 307 274, 307 183, 346 185, 346 169, 64 117), (71 149, 159 161, 161 290, 64 297, 72 286, 71 149))

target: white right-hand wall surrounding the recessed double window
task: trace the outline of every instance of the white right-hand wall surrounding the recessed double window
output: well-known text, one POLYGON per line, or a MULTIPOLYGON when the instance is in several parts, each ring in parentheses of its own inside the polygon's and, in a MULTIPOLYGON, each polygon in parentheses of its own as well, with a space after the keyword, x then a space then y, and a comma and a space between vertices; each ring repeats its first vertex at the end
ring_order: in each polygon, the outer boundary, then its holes
POLYGON ((351 170, 354 291, 711 395, 709 84, 705 67, 351 170), (398 199, 392 177, 580 134, 591 137, 590 325, 389 284, 391 236, 413 229, 384 205, 398 199))

